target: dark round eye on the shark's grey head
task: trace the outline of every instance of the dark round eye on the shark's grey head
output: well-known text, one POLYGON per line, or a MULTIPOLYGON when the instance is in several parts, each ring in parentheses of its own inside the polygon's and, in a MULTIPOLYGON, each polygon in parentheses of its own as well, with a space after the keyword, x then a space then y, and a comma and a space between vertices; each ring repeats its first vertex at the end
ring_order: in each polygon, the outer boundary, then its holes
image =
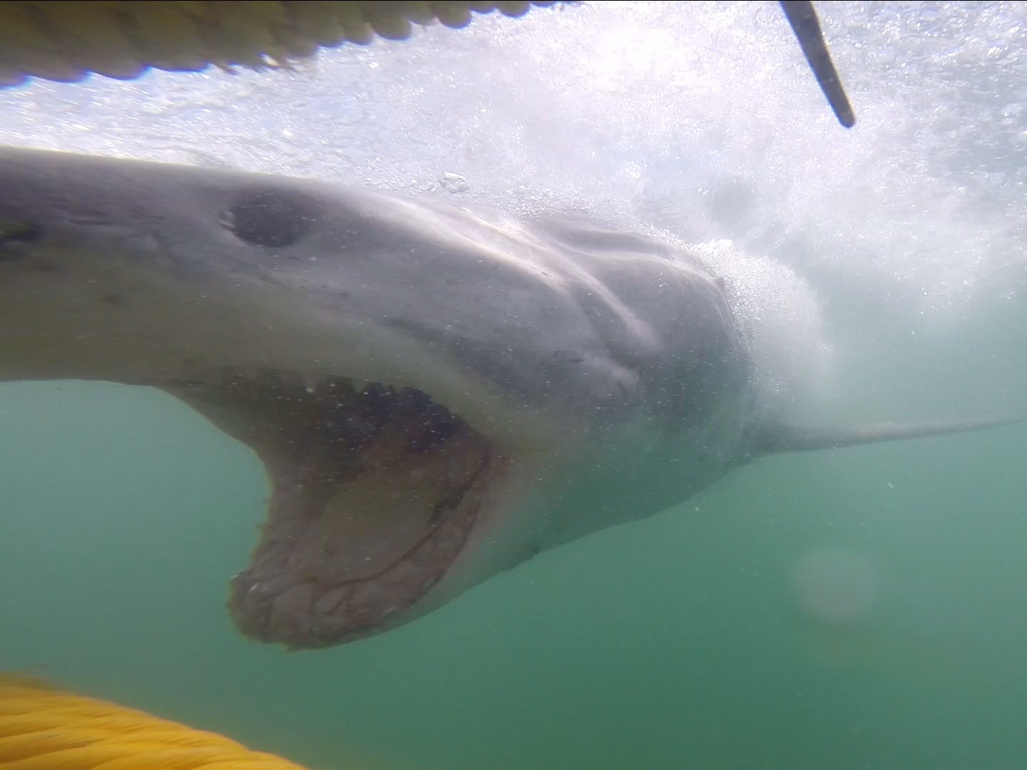
POLYGON ((317 219, 313 201, 292 191, 251 190, 225 213, 224 224, 255 246, 291 246, 310 232, 317 219))

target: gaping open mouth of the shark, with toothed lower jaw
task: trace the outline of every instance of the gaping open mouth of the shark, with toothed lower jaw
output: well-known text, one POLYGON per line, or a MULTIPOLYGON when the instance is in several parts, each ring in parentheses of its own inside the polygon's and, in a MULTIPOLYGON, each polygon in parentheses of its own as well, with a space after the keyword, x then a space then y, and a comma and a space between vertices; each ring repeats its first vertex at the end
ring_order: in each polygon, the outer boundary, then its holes
POLYGON ((489 442, 415 388, 226 371, 161 383, 264 462, 272 493, 229 608, 290 649, 369 636, 449 570, 479 516, 489 442))

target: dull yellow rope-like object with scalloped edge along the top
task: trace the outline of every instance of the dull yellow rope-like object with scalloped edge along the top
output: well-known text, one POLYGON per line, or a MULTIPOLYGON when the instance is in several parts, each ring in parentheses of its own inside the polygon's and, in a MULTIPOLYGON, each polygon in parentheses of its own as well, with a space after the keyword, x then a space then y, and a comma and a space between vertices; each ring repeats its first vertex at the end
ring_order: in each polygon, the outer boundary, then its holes
POLYGON ((90 72, 132 78, 150 67, 264 69, 318 46, 405 40, 411 24, 465 27, 471 13, 508 16, 554 2, 43 0, 0 2, 0 87, 27 78, 74 82, 90 72))

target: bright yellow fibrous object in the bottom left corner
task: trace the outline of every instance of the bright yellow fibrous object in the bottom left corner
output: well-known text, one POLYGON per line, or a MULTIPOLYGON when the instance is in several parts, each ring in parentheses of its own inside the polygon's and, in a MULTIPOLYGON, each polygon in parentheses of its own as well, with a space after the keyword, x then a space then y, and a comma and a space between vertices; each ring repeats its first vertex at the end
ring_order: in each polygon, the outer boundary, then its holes
POLYGON ((303 770, 194 730, 38 680, 0 676, 2 770, 303 770))

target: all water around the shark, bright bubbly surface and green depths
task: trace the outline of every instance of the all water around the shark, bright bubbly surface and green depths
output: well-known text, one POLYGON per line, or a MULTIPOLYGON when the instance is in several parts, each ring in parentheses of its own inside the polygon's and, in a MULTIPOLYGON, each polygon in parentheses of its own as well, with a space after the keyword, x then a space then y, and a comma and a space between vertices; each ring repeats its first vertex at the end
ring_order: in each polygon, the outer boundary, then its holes
MULTIPOLYGON (((1027 413, 1023 9, 820 5, 852 131, 775 4, 608 2, 294 73, 37 83, 0 92, 0 141, 731 238, 822 308, 799 415, 1027 413)), ((0 669, 318 770, 1020 770, 1025 456, 1009 427, 765 459, 286 654, 225 610, 267 495, 249 449, 156 390, 3 383, 0 669)))

